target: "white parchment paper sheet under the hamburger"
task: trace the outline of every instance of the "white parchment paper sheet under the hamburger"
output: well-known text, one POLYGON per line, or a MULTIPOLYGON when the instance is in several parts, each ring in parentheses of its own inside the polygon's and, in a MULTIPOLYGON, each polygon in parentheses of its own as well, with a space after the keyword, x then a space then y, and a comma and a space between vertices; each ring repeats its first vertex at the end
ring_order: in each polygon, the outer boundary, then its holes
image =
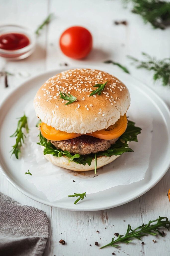
POLYGON ((135 121, 142 128, 138 135, 139 142, 130 142, 129 147, 134 152, 124 153, 114 162, 94 171, 77 173, 61 167, 54 166, 48 162, 43 155, 42 148, 38 142, 38 130, 35 127, 37 118, 34 110, 28 108, 30 132, 22 152, 21 171, 28 169, 31 175, 25 175, 28 182, 33 183, 37 190, 44 193, 50 202, 59 200, 73 193, 97 193, 118 185, 128 185, 142 180, 149 166, 152 138, 152 119, 145 119, 135 113, 128 111, 129 120, 135 121), (75 182, 73 182, 75 180, 75 182))

